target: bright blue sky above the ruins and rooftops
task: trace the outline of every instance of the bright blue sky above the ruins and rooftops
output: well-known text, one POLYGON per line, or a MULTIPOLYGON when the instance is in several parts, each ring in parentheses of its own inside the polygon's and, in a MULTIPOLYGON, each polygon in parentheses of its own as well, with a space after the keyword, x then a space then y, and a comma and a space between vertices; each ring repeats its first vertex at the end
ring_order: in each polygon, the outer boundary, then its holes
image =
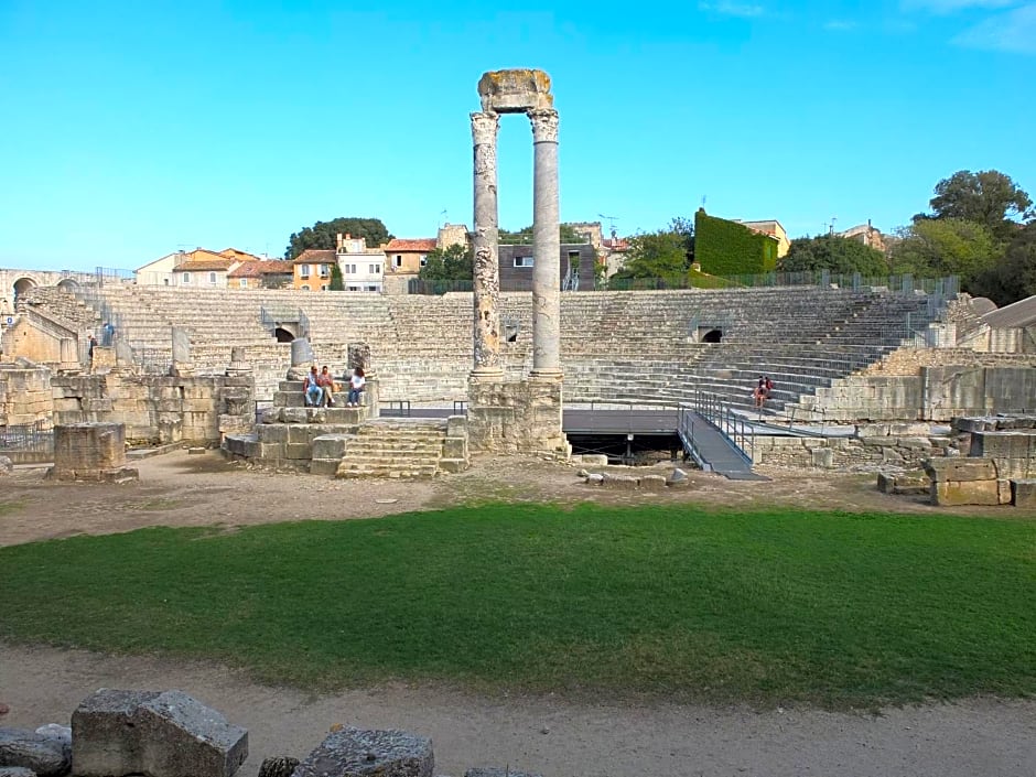
MULTIPOLYGON (((375 6, 0 0, 0 267, 280 256, 336 216, 471 226, 468 114, 504 67, 553 79, 562 219, 620 235, 703 197, 792 236, 888 231, 958 170, 1036 195, 1034 1, 375 6)), ((517 229, 527 119, 499 155, 517 229)))

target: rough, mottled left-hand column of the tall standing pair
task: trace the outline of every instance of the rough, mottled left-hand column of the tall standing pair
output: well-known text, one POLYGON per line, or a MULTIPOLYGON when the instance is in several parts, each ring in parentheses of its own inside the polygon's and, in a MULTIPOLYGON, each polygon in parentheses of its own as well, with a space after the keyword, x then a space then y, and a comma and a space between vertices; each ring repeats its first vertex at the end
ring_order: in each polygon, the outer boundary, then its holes
POLYGON ((474 354, 477 379, 503 379, 500 359, 500 265, 496 197, 496 136, 500 117, 472 114, 475 150, 474 354))

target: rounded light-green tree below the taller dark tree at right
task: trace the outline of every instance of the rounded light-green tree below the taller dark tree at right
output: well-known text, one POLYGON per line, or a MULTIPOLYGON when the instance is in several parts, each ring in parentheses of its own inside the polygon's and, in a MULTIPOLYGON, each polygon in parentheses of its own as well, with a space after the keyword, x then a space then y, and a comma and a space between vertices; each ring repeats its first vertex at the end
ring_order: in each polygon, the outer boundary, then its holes
POLYGON ((1004 256, 1004 245, 984 224, 962 218, 920 218, 897 230, 892 248, 896 272, 918 276, 960 276, 971 291, 972 282, 991 270, 1004 256))

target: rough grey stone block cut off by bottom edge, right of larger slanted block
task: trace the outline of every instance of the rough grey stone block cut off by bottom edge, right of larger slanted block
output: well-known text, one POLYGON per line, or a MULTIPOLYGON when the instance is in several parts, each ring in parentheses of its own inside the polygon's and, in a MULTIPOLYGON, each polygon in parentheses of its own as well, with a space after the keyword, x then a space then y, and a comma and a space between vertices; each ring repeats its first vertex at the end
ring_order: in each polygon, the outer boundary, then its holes
POLYGON ((432 777, 434 768, 429 738, 349 726, 328 734, 292 777, 432 777))

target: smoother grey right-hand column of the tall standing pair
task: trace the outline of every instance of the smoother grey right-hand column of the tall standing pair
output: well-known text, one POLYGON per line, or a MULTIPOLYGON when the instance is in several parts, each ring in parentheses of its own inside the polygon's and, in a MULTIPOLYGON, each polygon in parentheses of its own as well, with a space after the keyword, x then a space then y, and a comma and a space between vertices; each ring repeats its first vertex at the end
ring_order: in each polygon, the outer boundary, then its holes
POLYGON ((558 111, 529 111, 532 170, 532 376, 561 376, 561 236, 558 111))

